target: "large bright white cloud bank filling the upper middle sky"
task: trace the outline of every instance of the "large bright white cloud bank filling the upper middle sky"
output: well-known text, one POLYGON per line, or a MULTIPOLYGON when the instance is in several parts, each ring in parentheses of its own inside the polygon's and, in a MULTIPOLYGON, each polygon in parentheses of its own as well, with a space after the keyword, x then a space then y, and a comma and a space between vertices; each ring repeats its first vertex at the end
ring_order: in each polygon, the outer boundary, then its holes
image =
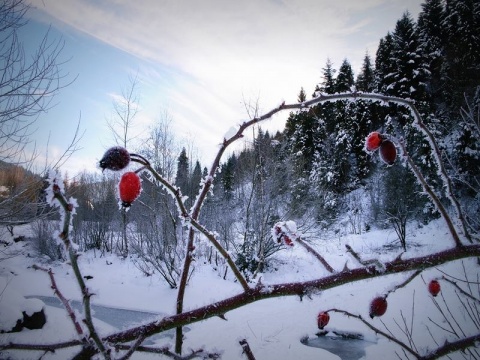
POLYGON ((151 87, 160 81, 162 90, 157 92, 171 107, 177 127, 194 133, 202 143, 214 137, 221 141, 230 126, 246 118, 243 98, 254 101, 259 94, 267 111, 282 99, 296 101, 301 86, 311 94, 327 57, 336 66, 347 57, 358 68, 366 49, 385 35, 383 29, 394 26, 381 11, 388 9, 398 19, 408 6, 419 7, 416 0, 32 3, 64 24, 150 63, 139 69, 142 81, 151 87), (385 21, 389 23, 383 28, 378 26, 385 21), (372 24, 377 31, 371 30, 372 24), (165 83, 159 68, 174 80, 165 83))

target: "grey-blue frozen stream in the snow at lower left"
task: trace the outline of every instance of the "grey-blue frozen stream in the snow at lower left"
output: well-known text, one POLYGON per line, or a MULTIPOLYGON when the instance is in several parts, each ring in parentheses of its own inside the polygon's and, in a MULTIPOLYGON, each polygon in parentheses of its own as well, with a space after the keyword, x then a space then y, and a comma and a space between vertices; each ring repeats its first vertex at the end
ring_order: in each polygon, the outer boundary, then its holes
MULTIPOLYGON (((35 298, 42 300, 45 305, 53 306, 63 309, 63 305, 59 299, 53 296, 27 296, 28 298, 35 298)), ((71 300, 70 305, 73 309, 83 312, 83 305, 80 301, 71 300)), ((109 325, 121 330, 126 329, 131 326, 139 325, 144 322, 152 321, 153 319, 158 319, 167 314, 161 313, 152 313, 146 311, 137 311, 137 310, 127 310, 127 309, 118 309, 111 308, 108 306, 95 305, 92 304, 92 315, 98 320, 102 320, 109 325)), ((190 329, 188 327, 183 327, 184 331, 187 332, 190 329)), ((150 337, 149 339, 170 337, 175 336, 175 329, 170 329, 162 332, 161 334, 150 337)), ((151 344, 151 341, 145 341, 144 344, 151 344)))

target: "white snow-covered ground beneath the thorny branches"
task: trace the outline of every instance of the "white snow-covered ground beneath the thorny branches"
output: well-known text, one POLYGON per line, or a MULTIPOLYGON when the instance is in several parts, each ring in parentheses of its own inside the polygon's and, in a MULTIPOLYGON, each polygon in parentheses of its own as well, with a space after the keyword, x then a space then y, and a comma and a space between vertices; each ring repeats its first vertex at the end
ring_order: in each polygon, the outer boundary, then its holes
MULTIPOLYGON (((15 231, 16 235, 19 235, 21 229, 17 228, 15 231)), ((342 270, 346 263, 349 268, 359 266, 356 260, 345 252, 345 244, 350 244, 365 259, 392 260, 401 252, 398 247, 393 249, 384 247, 395 241, 396 235, 392 230, 372 230, 361 235, 321 234, 320 237, 309 240, 338 271, 342 270)), ((11 240, 7 232, 2 233, 0 238, 11 240)), ((425 226, 410 224, 407 243, 411 246, 403 258, 453 246, 441 219, 425 226)), ((36 257, 25 242, 2 249, 9 253, 14 250, 19 250, 16 256, 0 261, 1 328, 8 328, 9 322, 14 321, 12 319, 15 318, 15 312, 21 314, 22 310, 35 310, 43 305, 39 300, 22 300, 24 302, 20 303, 15 299, 21 299, 21 296, 53 296, 48 275, 43 271, 34 270, 33 264, 51 267, 63 295, 70 300, 81 300, 80 290, 68 264, 47 263, 36 257)), ((174 314, 176 290, 170 289, 158 276, 145 277, 129 259, 123 260, 114 255, 100 257, 98 252, 96 256, 93 252, 87 252, 80 256, 79 263, 83 275, 93 276, 93 279, 87 281, 90 291, 95 294, 92 297, 93 304, 174 314)), ((327 275, 322 265, 300 246, 276 253, 272 264, 272 268, 261 275, 263 284, 303 281, 327 275)), ((448 322, 435 306, 425 283, 442 276, 441 271, 460 279, 465 278, 466 272, 471 280, 477 281, 478 269, 476 259, 468 259, 446 264, 437 269, 425 270, 422 277, 416 277, 408 286, 389 295, 387 313, 381 318, 373 319, 372 324, 383 330, 387 326, 392 333, 407 343, 403 331, 408 327, 420 353, 434 348, 435 342, 443 344, 446 333, 434 322, 445 327, 448 327, 448 322)), ((186 291, 185 309, 194 309, 242 291, 241 286, 232 278, 223 280, 222 275, 211 265, 204 263, 203 259, 196 261, 195 271, 186 291)), ((283 297, 262 300, 227 313, 226 321, 216 317, 191 324, 190 331, 185 333, 185 353, 189 349, 204 348, 206 351, 221 352, 222 359, 246 359, 245 355, 242 355, 239 341, 247 339, 258 360, 339 359, 326 350, 303 345, 300 341, 302 338, 316 337, 318 312, 338 308, 369 319, 371 299, 402 283, 409 275, 390 275, 346 284, 313 294, 311 298, 283 297)), ((441 295, 436 298, 441 306, 444 306, 443 299, 465 334, 478 331, 477 326, 465 314, 465 309, 460 305, 453 287, 442 282, 441 295)), ((24 329, 19 333, 0 334, 0 343, 54 343, 76 338, 75 329, 64 310, 52 306, 45 306, 45 310, 47 323, 42 330, 24 329)), ((100 320, 95 324, 101 335, 117 330, 100 320)), ((362 333, 365 340, 371 343, 365 349, 366 359, 393 359, 397 358, 395 352, 405 357, 397 345, 380 336, 377 337, 356 319, 331 313, 330 323, 326 329, 362 333)), ((158 345, 173 342, 169 337, 156 341, 158 345)), ((76 349, 57 350, 55 353, 45 354, 43 359, 67 359, 75 351, 76 349)), ((9 351, 0 353, 0 358, 36 359, 41 355, 42 353, 38 351, 9 351)), ((451 356, 453 359, 459 357, 459 354, 451 356)), ((153 356, 136 353, 132 358, 149 359, 153 356)))

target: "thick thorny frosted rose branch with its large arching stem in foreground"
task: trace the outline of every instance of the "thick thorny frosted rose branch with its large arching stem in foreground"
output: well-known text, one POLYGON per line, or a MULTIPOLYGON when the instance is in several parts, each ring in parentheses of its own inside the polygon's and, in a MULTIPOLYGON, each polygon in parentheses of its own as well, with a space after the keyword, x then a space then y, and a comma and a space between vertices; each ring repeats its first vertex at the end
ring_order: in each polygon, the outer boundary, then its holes
MULTIPOLYGON (((446 173, 445 167, 443 166, 442 160, 440 158, 438 146, 436 145, 433 135, 428 130, 428 128, 424 125, 418 110, 416 109, 414 103, 411 100, 385 96, 381 94, 359 93, 359 92, 341 93, 341 94, 317 94, 317 97, 302 103, 285 104, 283 102, 279 106, 265 113, 264 115, 256 116, 249 121, 243 122, 241 125, 239 125, 238 130, 236 131, 234 130, 233 132, 229 131, 229 136, 224 138, 223 142, 220 144, 220 147, 210 167, 208 175, 204 178, 201 188, 199 190, 199 193, 190 211, 187 211, 185 207, 184 199, 180 192, 180 189, 170 184, 167 180, 165 180, 162 176, 160 176, 156 171, 154 171, 154 169, 150 166, 150 163, 146 159, 144 159, 139 155, 128 154, 128 152, 125 149, 123 149, 123 154, 121 153, 119 158, 121 167, 118 167, 120 163, 113 162, 112 169, 118 170, 120 168, 124 168, 128 164, 128 161, 130 161, 130 155, 131 155, 132 161, 142 164, 143 169, 148 170, 153 175, 153 177, 171 194, 171 196, 174 198, 177 204, 180 216, 182 217, 185 224, 189 225, 189 232, 188 232, 188 240, 186 245, 186 256, 184 259, 183 269, 182 269, 181 278, 180 278, 179 287, 178 287, 178 293, 177 293, 176 315, 166 317, 159 322, 146 324, 141 327, 136 327, 133 329, 126 330, 124 332, 119 332, 117 334, 110 335, 106 337, 104 340, 108 342, 113 342, 113 343, 126 342, 126 341, 132 341, 136 339, 138 334, 142 334, 142 336, 144 335, 148 337, 154 333, 162 332, 164 330, 171 329, 171 328, 176 328, 175 352, 177 354, 181 354, 182 343, 183 343, 182 326, 196 322, 196 321, 200 321, 212 316, 223 315, 225 312, 229 310, 245 306, 254 301, 258 301, 258 300, 266 299, 270 297, 276 297, 276 296, 288 296, 288 295, 303 296, 305 294, 308 294, 310 291, 324 290, 327 288, 340 286, 348 282, 373 278, 376 276, 383 276, 383 275, 392 274, 392 273, 421 270, 427 267, 435 266, 435 265, 442 264, 455 259, 478 256, 480 254, 479 246, 473 246, 473 245, 464 246, 462 244, 460 237, 458 236, 457 230, 455 228, 455 225, 446 210, 446 207, 441 203, 438 196, 431 189, 431 187, 426 183, 418 167, 415 166, 412 159, 408 156, 408 153, 405 149, 403 142, 400 142, 400 146, 403 149, 403 154, 406 156, 406 159, 409 165, 413 169, 414 174, 416 175, 417 179, 423 186, 425 192, 429 195, 430 199, 435 204, 437 209, 439 209, 440 213, 442 214, 442 217, 447 222, 448 228, 452 234, 453 240, 456 245, 454 249, 442 251, 426 257, 419 257, 419 258, 413 258, 413 259, 407 259, 407 260, 402 260, 399 257, 394 261, 382 264, 378 260, 363 261, 360 258, 360 256, 358 256, 358 254, 356 254, 353 251, 353 249, 347 247, 347 250, 363 265, 363 267, 359 269, 353 269, 353 270, 345 269, 341 273, 335 273, 333 268, 325 261, 325 259, 321 255, 319 255, 313 249, 311 248, 309 249, 309 247, 306 246, 307 244, 300 239, 299 244, 302 245, 304 248, 306 248, 307 251, 313 253, 321 261, 321 263, 325 266, 325 268, 330 273, 332 273, 332 275, 324 278, 320 278, 317 280, 312 280, 310 282, 278 284, 278 285, 268 286, 268 288, 259 286, 252 289, 248 286, 245 278, 238 271, 231 257, 225 251, 225 249, 218 243, 215 236, 213 236, 211 232, 205 229, 198 222, 202 205, 207 197, 207 194, 211 190, 213 180, 216 173, 218 172, 218 169, 220 166, 220 160, 223 154, 232 143, 234 143, 235 141, 243 137, 243 134, 246 129, 264 120, 270 119, 273 115, 284 110, 302 110, 302 109, 308 109, 315 104, 329 102, 329 101, 335 102, 339 100, 347 100, 347 101, 354 102, 359 99, 371 100, 371 101, 383 101, 385 103, 396 103, 410 109, 411 114, 414 117, 414 125, 417 126, 418 129, 424 134, 424 136, 427 138, 427 140, 429 141, 432 147, 434 158, 438 163, 437 165, 439 169, 439 175, 441 176, 444 182, 445 188, 447 189, 447 196, 457 211, 457 217, 459 221, 462 224, 464 224, 464 217, 463 217, 460 206, 458 205, 458 203, 456 203, 456 198, 452 192, 451 181, 446 173), (128 161, 126 161, 127 158, 128 158, 128 161), (220 252, 220 254, 227 260, 227 263, 232 268, 233 272, 235 273, 235 276, 237 277, 238 281, 242 285, 244 292, 232 298, 228 298, 202 308, 184 312, 183 301, 185 296, 185 289, 186 289, 188 276, 190 274, 190 267, 194 257, 195 247, 193 243, 195 239, 195 230, 200 231, 202 234, 204 234, 207 237, 207 239, 209 239, 212 242, 212 244, 220 252), (313 250, 313 252, 310 250, 313 250)), ((104 162, 104 164, 102 165, 102 161, 100 162, 100 165, 102 166, 102 168, 108 168, 108 166, 105 165, 106 162, 104 162)), ((468 240, 470 240, 470 237, 465 225, 464 225, 464 235, 468 240)), ((418 273, 415 272, 414 276, 416 276, 417 274, 418 273)), ((79 281, 79 284, 80 284, 80 281, 79 281)), ((88 297, 89 296, 86 296, 86 298, 88 297)))

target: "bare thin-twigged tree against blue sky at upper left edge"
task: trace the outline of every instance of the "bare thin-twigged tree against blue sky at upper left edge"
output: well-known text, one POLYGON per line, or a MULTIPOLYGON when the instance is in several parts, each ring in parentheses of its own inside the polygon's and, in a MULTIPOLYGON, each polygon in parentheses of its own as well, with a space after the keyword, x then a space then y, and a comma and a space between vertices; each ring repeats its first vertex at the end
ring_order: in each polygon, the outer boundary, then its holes
POLYGON ((0 3, 0 160, 28 161, 25 147, 38 116, 50 109, 54 95, 69 85, 61 71, 63 40, 47 31, 34 53, 25 51, 19 36, 27 24, 25 0, 0 3))

